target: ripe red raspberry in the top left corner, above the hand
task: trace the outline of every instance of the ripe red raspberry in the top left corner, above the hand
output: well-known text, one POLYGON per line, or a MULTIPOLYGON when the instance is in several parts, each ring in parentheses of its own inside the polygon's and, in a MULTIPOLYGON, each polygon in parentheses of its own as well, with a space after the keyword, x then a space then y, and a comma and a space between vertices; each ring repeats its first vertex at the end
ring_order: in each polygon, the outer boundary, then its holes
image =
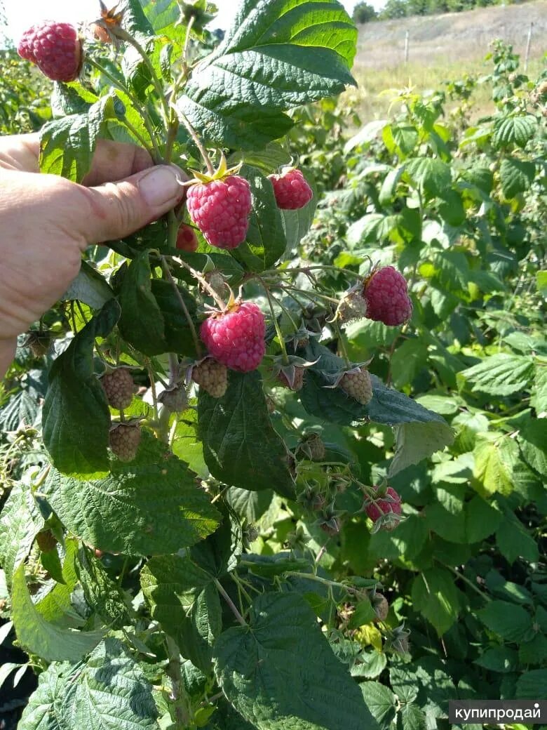
POLYGON ((23 33, 18 53, 53 81, 74 81, 82 66, 82 42, 70 23, 36 23, 23 33))

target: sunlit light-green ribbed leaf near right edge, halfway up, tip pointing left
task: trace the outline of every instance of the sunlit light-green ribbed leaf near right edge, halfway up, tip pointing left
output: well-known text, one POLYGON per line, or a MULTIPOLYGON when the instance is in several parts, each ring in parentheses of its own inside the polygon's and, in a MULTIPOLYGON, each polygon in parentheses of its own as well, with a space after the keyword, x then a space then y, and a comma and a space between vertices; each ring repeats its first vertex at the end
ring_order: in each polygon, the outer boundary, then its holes
POLYGON ((511 396, 528 388, 533 374, 533 358, 500 353, 462 370, 458 373, 458 378, 470 383, 472 393, 511 396))

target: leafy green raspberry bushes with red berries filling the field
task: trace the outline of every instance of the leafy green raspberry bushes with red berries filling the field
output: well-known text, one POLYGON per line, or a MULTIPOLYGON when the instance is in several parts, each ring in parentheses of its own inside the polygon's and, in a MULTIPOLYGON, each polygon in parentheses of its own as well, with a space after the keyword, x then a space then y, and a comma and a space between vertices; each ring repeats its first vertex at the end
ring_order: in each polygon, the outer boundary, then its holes
POLYGON ((545 699, 547 69, 496 42, 364 119, 341 4, 238 0, 223 38, 210 11, 122 0, 0 52, 42 174, 85 185, 106 140, 180 182, 0 386, 0 728, 545 699))

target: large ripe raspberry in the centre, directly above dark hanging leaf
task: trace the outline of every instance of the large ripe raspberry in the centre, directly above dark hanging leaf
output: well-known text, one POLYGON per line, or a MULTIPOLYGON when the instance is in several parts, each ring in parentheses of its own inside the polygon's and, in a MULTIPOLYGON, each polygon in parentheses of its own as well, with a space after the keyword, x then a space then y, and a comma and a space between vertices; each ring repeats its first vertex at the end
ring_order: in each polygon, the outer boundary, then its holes
POLYGON ((252 301, 206 319, 200 335, 209 353, 232 370, 249 372, 260 365, 265 353, 265 320, 252 301))

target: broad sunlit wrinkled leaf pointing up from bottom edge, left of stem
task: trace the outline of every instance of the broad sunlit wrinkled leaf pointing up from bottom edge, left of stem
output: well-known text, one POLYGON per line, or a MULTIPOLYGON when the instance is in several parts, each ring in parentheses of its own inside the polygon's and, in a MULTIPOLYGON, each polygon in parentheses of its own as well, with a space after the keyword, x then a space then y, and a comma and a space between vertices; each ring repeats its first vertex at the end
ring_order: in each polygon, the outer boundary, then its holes
POLYGON ((63 730, 157 730, 158 710, 139 664, 117 639, 104 639, 66 685, 63 730))

